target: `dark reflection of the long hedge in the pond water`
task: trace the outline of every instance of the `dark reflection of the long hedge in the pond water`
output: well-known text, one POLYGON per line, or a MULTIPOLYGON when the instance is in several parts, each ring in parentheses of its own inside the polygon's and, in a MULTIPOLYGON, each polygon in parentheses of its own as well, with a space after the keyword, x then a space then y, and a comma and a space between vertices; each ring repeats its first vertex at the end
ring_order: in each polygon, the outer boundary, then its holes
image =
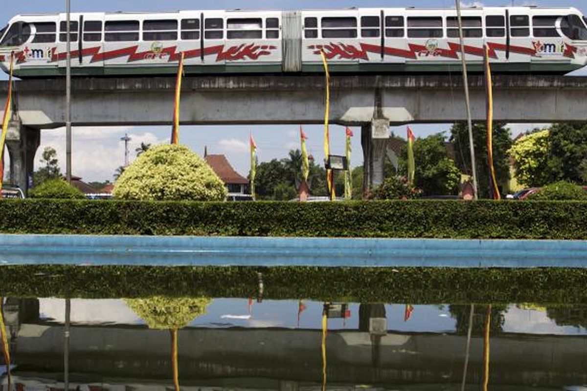
POLYGON ((435 267, 2 266, 0 296, 265 299, 469 304, 587 302, 587 269, 435 267))

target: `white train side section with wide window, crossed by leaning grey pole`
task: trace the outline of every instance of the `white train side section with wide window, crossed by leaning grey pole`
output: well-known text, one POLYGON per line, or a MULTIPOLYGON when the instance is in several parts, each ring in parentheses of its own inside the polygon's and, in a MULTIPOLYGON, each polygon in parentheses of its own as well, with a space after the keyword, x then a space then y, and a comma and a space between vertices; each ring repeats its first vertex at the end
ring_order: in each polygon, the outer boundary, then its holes
MULTIPOLYGON (((485 44, 485 40, 483 35, 483 13, 477 9, 464 9, 461 15, 461 24, 463 26, 465 59, 468 64, 473 65, 477 63, 480 66, 484 62, 483 45, 485 44)), ((446 36, 446 49, 448 53, 446 53, 446 56, 443 56, 445 57, 444 60, 460 67, 461 50, 456 13, 447 12, 446 36), (456 59, 450 58, 455 55, 457 56, 456 59)))

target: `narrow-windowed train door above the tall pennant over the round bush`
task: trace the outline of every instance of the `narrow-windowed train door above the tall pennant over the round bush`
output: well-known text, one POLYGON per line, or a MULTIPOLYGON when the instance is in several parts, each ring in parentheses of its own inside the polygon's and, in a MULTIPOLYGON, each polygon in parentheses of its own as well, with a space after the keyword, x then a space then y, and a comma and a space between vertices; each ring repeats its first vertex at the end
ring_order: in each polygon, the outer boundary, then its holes
POLYGON ((204 14, 194 11, 180 11, 180 36, 177 42, 177 53, 184 53, 184 69, 189 72, 190 66, 203 63, 204 52, 204 14))

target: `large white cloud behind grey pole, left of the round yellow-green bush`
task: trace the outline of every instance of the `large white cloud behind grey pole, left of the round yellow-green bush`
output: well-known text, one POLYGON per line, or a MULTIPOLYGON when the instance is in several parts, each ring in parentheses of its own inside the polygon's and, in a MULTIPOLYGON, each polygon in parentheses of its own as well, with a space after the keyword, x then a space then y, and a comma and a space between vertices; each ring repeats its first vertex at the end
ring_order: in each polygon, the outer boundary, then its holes
MULTIPOLYGON (((124 142, 120 140, 127 133, 129 142, 129 161, 136 158, 135 148, 141 142, 160 144, 160 140, 151 132, 139 132, 133 127, 75 127, 72 129, 72 174, 80 176, 85 182, 113 180, 116 168, 124 164, 124 142)), ((41 145, 35 157, 35 168, 41 163, 41 154, 45 147, 55 148, 59 166, 65 174, 65 128, 43 130, 41 145)))

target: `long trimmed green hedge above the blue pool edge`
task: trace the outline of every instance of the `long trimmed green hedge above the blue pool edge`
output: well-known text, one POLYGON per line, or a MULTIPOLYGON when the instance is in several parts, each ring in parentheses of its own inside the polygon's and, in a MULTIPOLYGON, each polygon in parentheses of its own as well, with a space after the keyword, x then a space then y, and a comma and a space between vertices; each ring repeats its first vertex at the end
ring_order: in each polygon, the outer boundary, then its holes
POLYGON ((587 202, 1 200, 2 233, 587 239, 587 202))

